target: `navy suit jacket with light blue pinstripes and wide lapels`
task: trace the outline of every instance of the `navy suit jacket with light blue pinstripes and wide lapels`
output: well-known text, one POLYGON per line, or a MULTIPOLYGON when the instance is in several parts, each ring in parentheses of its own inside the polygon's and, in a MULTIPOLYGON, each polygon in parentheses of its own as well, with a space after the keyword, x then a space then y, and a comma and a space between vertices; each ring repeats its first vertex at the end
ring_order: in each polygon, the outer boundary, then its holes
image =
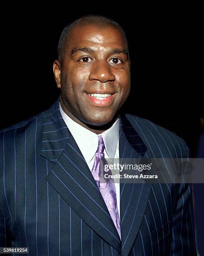
MULTIPOLYGON (((121 183, 121 241, 81 151, 52 107, 0 132, 0 246, 30 255, 196 255, 190 184, 121 183)), ((120 118, 119 155, 186 158, 149 120, 120 118)))

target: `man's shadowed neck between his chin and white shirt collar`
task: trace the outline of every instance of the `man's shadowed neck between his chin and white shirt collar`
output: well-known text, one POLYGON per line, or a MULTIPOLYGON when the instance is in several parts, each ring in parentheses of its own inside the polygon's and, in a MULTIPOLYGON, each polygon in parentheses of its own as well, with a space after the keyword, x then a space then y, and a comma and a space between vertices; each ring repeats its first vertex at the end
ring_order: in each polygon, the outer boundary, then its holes
POLYGON ((67 110, 67 108, 65 107, 65 105, 63 104, 63 100, 60 97, 60 105, 63 109, 63 111, 65 112, 66 115, 68 115, 73 121, 75 121, 76 123, 78 123, 79 125, 83 126, 84 128, 88 129, 89 131, 92 131, 93 133, 96 134, 100 134, 103 131, 106 131, 108 128, 110 128, 113 123, 119 118, 120 114, 114 116, 114 118, 111 120, 111 122, 105 124, 105 125, 91 125, 91 124, 87 124, 87 123, 83 123, 81 120, 79 120, 78 118, 76 118, 70 111, 67 110))

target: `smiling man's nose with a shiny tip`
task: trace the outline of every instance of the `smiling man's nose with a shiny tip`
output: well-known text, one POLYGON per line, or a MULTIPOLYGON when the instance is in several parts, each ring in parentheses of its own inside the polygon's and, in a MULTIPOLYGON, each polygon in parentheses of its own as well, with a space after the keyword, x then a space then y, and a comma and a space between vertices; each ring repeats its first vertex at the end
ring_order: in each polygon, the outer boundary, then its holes
POLYGON ((101 83, 115 81, 116 77, 111 72, 111 66, 106 61, 96 61, 89 74, 89 80, 98 80, 101 83))

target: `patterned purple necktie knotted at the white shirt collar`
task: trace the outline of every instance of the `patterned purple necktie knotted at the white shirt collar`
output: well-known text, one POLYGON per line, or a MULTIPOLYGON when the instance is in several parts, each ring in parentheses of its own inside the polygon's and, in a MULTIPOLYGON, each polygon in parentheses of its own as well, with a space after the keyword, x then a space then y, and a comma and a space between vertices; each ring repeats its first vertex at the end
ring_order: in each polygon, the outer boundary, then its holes
MULTIPOLYGON (((118 205, 116 199, 116 187, 112 178, 104 179, 103 171, 104 171, 104 142, 101 135, 98 136, 98 148, 95 154, 95 160, 92 168, 92 175, 96 181, 96 184, 101 192, 103 200, 106 203, 108 211, 111 215, 113 223, 118 231, 118 234, 121 238, 121 227, 120 227, 120 219, 118 214, 118 205), (101 177, 101 178, 100 178, 101 177), (100 182, 101 181, 101 182, 100 182)), ((106 162, 107 164, 107 162, 106 162)), ((107 172, 111 174, 111 170, 107 172)))

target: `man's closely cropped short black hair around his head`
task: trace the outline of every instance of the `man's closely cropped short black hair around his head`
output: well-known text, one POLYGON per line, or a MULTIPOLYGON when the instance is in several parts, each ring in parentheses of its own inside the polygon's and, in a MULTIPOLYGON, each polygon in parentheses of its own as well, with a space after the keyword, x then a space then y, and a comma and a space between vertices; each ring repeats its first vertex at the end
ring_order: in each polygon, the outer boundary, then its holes
POLYGON ((70 23, 67 26, 65 26, 65 28, 63 29, 58 42, 58 51, 57 51, 58 61, 60 63, 63 60, 63 56, 65 52, 65 44, 69 40, 69 36, 71 35, 71 31, 73 31, 73 28, 75 28, 76 26, 83 27, 86 25, 93 25, 99 28, 112 27, 121 31, 126 44, 126 50, 127 50, 128 59, 129 59, 128 42, 126 39, 126 35, 123 29, 121 28, 121 26, 115 20, 112 20, 111 18, 108 18, 106 16, 98 15, 98 14, 90 14, 90 15, 84 15, 78 18, 77 20, 73 21, 73 23, 70 23))

